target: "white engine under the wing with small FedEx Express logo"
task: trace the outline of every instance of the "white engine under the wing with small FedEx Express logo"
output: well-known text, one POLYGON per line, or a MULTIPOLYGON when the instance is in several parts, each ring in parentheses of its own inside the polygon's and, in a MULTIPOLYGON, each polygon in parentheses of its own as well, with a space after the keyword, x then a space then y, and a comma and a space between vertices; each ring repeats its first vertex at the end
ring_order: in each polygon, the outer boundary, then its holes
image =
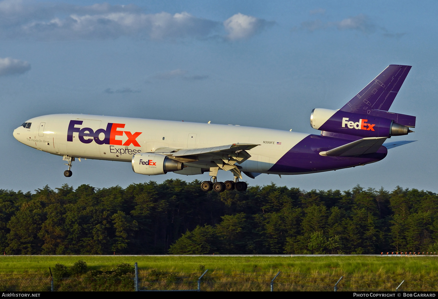
POLYGON ((183 163, 156 153, 136 153, 131 163, 135 173, 146 175, 166 174, 184 168, 183 163))

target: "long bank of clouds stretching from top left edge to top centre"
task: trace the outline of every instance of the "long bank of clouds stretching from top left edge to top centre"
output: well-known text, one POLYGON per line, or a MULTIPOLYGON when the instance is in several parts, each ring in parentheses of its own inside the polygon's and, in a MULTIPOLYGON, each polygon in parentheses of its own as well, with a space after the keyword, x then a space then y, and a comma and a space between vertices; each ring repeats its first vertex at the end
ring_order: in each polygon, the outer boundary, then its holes
POLYGON ((80 6, 34 0, 0 0, 0 40, 31 38, 42 41, 136 38, 250 38, 273 24, 235 14, 224 22, 188 12, 146 14, 135 5, 97 3, 80 6), (223 27, 222 27, 223 26, 223 27), (226 35, 220 34, 225 29, 226 35))

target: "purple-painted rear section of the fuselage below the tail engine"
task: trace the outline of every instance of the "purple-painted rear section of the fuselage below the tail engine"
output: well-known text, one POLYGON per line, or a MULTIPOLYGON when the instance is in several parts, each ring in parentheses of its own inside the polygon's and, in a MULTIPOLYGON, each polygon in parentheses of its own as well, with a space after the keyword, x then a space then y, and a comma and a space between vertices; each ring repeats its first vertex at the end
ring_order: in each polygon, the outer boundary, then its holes
POLYGON ((353 167, 382 160, 388 153, 388 149, 381 146, 376 153, 360 156, 333 157, 319 154, 350 142, 329 136, 309 135, 284 154, 269 172, 308 173, 353 167))

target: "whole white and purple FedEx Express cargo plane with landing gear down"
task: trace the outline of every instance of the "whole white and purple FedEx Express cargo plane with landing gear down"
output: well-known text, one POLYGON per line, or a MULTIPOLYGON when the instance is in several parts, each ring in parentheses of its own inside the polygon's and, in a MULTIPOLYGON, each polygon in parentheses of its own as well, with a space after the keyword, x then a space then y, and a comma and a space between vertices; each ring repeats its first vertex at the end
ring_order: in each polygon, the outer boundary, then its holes
POLYGON ((259 174, 310 174, 374 163, 389 148, 412 141, 384 143, 407 135, 415 116, 389 112, 411 66, 390 65, 338 110, 316 108, 310 116, 318 135, 238 125, 177 122, 82 114, 54 114, 27 120, 14 130, 19 142, 62 156, 71 177, 75 158, 131 162, 138 174, 208 171, 203 191, 244 191, 259 174), (233 181, 217 180, 231 171, 233 181))

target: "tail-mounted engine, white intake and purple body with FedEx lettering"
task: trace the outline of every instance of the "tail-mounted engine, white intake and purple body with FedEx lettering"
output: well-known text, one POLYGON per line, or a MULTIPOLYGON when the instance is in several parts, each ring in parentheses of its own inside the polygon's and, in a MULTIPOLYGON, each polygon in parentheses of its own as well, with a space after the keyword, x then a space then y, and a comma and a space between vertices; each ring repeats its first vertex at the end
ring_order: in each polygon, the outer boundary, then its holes
POLYGON ((413 132, 389 118, 316 108, 310 116, 312 128, 360 137, 391 137, 413 132))

